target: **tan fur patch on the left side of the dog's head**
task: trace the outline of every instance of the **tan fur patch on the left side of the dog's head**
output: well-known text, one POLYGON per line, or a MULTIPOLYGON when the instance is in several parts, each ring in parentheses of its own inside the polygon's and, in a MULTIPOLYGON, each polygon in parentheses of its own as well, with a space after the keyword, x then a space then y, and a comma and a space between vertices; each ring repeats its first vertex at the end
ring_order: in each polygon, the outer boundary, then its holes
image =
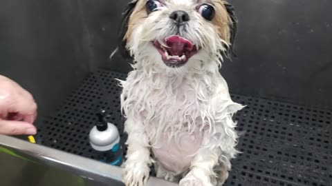
POLYGON ((147 18, 147 11, 145 10, 145 4, 147 0, 138 0, 133 13, 129 18, 128 30, 124 35, 124 40, 131 41, 133 30, 135 30, 136 25, 140 25, 147 18))

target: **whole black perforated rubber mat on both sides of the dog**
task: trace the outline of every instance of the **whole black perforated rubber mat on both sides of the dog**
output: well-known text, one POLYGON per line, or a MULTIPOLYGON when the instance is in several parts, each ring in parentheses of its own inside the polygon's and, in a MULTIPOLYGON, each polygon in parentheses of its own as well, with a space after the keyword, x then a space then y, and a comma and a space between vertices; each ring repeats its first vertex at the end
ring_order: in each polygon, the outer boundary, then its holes
MULTIPOLYGON (((107 70, 90 74, 54 114, 44 119, 37 143, 95 158, 89 131, 97 120, 98 108, 107 110, 109 121, 123 132, 121 88, 115 78, 126 76, 107 70)), ((232 95, 232 99, 247 107, 234 116, 237 130, 243 132, 237 145, 242 153, 232 161, 225 185, 332 185, 330 111, 250 96, 232 95)), ((121 137, 123 145, 126 136, 121 137)))

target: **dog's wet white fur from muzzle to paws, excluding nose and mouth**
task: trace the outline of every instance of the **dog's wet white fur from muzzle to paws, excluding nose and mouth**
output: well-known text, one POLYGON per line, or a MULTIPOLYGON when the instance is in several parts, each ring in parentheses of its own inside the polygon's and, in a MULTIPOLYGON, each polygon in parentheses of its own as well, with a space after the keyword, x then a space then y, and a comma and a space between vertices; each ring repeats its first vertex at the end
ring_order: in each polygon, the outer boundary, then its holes
POLYGON ((223 185, 237 154, 232 115, 242 109, 219 73, 225 41, 194 12, 192 1, 168 2, 133 30, 127 44, 134 63, 127 80, 119 80, 128 134, 123 181, 145 185, 154 164, 159 178, 181 186, 223 185), (181 68, 167 67, 151 43, 173 34, 167 14, 175 7, 191 17, 183 37, 201 47, 181 68))

